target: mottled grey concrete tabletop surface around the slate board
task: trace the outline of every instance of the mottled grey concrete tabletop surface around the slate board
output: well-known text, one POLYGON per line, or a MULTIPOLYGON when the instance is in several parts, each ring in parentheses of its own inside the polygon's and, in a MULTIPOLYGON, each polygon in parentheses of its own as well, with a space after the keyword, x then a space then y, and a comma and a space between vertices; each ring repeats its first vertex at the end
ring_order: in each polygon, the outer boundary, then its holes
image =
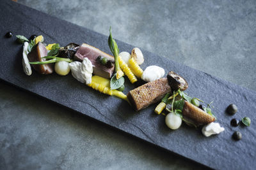
MULTIPOLYGON (((19 3, 256 90, 256 1, 19 3)), ((203 169, 3 82, 0 115, 0 169, 203 169)))

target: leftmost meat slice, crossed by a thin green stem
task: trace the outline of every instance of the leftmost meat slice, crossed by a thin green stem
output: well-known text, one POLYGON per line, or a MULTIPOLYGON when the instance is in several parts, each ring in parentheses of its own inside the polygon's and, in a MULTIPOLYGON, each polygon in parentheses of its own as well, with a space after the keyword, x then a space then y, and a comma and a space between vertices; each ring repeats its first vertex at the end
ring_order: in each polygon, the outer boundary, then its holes
MULTIPOLYGON (((41 42, 28 53, 29 62, 43 62, 46 59, 42 57, 45 56, 47 56, 47 50, 41 42)), ((32 67, 40 74, 51 74, 53 72, 52 64, 32 64, 32 67)))

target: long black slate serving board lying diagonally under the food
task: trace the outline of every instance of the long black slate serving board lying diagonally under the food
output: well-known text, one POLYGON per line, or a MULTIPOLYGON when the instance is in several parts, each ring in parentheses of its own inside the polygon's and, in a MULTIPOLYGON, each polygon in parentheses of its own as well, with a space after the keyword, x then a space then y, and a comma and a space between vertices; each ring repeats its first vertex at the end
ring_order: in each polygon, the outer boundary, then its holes
MULTIPOLYGON (((137 113, 125 101, 100 94, 79 83, 70 74, 40 75, 33 71, 31 76, 26 76, 22 71, 22 46, 15 43, 14 37, 4 38, 8 31, 26 37, 31 34, 42 34, 47 43, 60 43, 62 46, 70 42, 88 43, 110 53, 107 36, 12 1, 1 1, 0 9, 1 80, 205 166, 214 169, 255 168, 254 91, 142 50, 145 56, 143 69, 150 65, 158 65, 163 67, 166 73, 172 70, 184 76, 189 83, 186 92, 190 96, 204 99, 207 103, 214 101, 213 111, 218 118, 217 122, 225 127, 224 132, 210 138, 205 138, 200 130, 184 124, 177 131, 172 131, 164 124, 164 117, 154 113, 156 104, 137 113), (235 103, 239 108, 236 117, 251 118, 250 127, 230 127, 230 120, 234 117, 225 113, 225 108, 230 103, 235 103), (237 130, 243 134, 241 141, 234 141, 231 138, 237 130)), ((115 28, 113 30, 115 32, 115 28)), ((117 44, 120 51, 130 52, 134 47, 122 41, 117 41, 117 44)), ((129 81, 126 82, 125 94, 134 88, 129 81)))

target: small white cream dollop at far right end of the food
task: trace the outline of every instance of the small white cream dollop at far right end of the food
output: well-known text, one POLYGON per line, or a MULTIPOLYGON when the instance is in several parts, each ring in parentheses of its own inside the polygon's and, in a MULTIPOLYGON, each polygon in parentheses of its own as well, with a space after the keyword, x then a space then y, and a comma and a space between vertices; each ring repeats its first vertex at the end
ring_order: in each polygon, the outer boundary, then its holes
POLYGON ((211 122, 203 127, 202 133, 204 136, 209 137, 212 134, 219 134, 220 132, 225 131, 224 127, 220 127, 219 123, 211 122))

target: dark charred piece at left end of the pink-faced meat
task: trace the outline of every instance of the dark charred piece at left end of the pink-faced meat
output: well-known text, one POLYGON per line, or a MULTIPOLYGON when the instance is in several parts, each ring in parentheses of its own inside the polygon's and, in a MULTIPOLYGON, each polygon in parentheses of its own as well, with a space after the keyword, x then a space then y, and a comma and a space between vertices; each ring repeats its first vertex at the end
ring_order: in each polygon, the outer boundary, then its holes
POLYGON ((59 49, 59 56, 63 58, 73 59, 77 52, 79 45, 76 43, 69 43, 68 45, 59 49))

